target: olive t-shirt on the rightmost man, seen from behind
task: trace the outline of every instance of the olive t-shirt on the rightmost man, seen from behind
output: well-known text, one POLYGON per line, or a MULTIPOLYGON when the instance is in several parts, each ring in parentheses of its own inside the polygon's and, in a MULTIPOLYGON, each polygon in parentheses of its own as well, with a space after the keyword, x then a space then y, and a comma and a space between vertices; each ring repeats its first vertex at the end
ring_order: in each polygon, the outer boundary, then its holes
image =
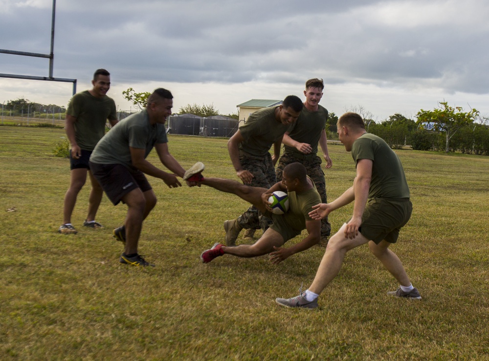
POLYGON ((404 169, 396 153, 380 137, 365 133, 354 141, 352 157, 355 164, 361 159, 370 159, 372 180, 368 198, 409 198, 404 169))

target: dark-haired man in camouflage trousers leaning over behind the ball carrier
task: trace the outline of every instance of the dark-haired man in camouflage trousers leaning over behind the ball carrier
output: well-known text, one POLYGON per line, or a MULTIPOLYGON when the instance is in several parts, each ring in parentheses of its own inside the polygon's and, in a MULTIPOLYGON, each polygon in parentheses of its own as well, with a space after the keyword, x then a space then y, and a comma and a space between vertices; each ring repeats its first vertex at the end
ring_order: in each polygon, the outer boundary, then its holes
MULTIPOLYGON (((280 156, 282 137, 297 120, 302 107, 298 97, 289 95, 281 105, 251 114, 229 139, 229 157, 236 175, 244 184, 261 188, 270 188, 275 184, 275 163, 280 156), (270 156, 272 145, 273 156, 270 156)), ((271 219, 252 205, 238 219, 224 222, 226 245, 235 245, 243 228, 251 231, 261 228, 265 232, 270 223, 271 219)), ((247 233, 247 236, 252 239, 253 233, 247 233)))

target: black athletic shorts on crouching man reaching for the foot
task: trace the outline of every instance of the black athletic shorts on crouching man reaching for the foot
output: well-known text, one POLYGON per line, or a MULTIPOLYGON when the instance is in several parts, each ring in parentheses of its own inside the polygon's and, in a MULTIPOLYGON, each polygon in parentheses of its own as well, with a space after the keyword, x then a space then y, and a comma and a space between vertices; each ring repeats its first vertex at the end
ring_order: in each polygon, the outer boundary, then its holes
POLYGON ((140 188, 142 192, 152 189, 143 172, 135 168, 128 169, 122 164, 90 162, 90 170, 114 205, 133 189, 140 188))

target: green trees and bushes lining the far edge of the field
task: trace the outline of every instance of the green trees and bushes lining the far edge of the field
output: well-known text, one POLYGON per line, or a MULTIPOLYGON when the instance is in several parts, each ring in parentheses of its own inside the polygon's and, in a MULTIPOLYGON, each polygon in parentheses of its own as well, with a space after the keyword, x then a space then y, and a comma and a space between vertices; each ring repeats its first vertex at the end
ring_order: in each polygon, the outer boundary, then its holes
MULTIPOLYGON (((149 92, 137 93, 133 88, 122 92, 138 109, 146 106, 151 95, 149 92)), ((56 104, 41 104, 26 99, 9 100, 2 104, 3 113, 13 117, 47 117, 51 114, 64 113, 66 108, 56 104)), ((378 135, 392 148, 401 149, 411 146, 414 150, 432 150, 445 152, 462 152, 466 154, 489 156, 489 118, 481 117, 477 109, 464 111, 462 107, 452 107, 442 101, 433 110, 421 109, 416 120, 400 114, 394 114, 382 122, 373 120, 373 115, 363 107, 351 109, 365 121, 367 132, 378 135)), ((187 104, 178 109, 177 114, 195 114, 200 117, 212 117, 219 114, 213 104, 187 104)), ((226 114, 226 117, 239 119, 238 112, 226 114)), ((329 139, 337 139, 336 122, 338 116, 329 113, 326 130, 329 139)))

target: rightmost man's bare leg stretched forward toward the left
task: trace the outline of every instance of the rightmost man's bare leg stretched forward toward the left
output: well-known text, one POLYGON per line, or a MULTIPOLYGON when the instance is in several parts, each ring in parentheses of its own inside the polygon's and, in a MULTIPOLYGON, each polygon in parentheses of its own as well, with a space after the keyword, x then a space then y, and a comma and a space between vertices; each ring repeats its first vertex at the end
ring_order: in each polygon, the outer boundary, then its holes
POLYGON ((315 294, 319 295, 338 275, 346 252, 368 242, 368 240, 360 233, 353 240, 346 238, 345 227, 346 223, 343 224, 339 231, 336 232, 328 242, 323 259, 316 271, 314 281, 312 281, 311 286, 309 287, 309 290, 315 294))

